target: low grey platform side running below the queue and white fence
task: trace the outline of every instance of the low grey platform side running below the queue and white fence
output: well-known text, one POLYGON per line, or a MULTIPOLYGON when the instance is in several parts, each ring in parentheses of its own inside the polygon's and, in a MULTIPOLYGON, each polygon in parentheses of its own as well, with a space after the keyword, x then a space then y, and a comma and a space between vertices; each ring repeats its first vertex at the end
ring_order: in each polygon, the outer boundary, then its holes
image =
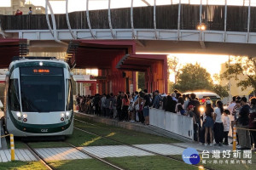
POLYGON ((154 127, 151 125, 145 126, 140 122, 119 122, 116 119, 109 119, 109 118, 102 117, 102 116, 90 115, 90 114, 85 114, 85 113, 80 113, 80 112, 75 112, 75 116, 78 116, 81 118, 86 118, 93 122, 102 122, 102 123, 110 125, 110 126, 122 127, 122 128, 126 128, 129 130, 141 132, 141 133, 154 134, 154 135, 163 136, 166 138, 177 139, 177 140, 180 140, 183 142, 189 142, 189 143, 194 142, 191 139, 185 138, 176 133, 172 133, 172 132, 166 131, 164 129, 161 129, 159 127, 154 127))

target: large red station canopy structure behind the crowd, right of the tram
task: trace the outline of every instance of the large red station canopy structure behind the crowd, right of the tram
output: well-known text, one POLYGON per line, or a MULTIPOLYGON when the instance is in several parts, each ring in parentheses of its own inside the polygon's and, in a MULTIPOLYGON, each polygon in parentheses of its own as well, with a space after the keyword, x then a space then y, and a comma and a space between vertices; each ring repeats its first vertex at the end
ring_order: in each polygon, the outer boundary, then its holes
MULTIPOLYGON (((145 72, 148 92, 158 89, 167 93, 167 56, 136 54, 133 40, 74 40, 68 47, 66 60, 72 68, 99 69, 96 77, 99 94, 136 91, 136 71, 145 72)), ((92 94, 96 94, 96 83, 90 87, 92 94)))

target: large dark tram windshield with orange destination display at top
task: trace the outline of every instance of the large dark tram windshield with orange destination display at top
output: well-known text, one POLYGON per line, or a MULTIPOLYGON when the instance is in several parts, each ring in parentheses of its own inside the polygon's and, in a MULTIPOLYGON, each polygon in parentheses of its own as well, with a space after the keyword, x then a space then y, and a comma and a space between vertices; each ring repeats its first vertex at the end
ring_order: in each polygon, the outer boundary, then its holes
POLYGON ((65 88, 62 68, 20 68, 22 111, 65 111, 65 88))

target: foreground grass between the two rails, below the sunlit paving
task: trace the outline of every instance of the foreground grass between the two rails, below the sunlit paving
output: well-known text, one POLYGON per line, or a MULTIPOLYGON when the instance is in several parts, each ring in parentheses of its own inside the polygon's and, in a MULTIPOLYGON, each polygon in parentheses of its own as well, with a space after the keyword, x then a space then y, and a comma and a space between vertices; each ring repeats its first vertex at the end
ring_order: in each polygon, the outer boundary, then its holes
POLYGON ((108 170, 114 169, 109 167, 102 161, 97 161, 94 159, 84 159, 84 160, 72 160, 72 161, 49 161, 49 165, 55 167, 58 170, 108 170))

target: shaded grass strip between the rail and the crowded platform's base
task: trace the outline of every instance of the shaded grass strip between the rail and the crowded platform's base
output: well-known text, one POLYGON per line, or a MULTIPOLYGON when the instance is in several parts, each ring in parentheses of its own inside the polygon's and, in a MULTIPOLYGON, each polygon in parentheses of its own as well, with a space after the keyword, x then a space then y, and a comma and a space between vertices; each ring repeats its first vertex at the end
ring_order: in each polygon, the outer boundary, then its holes
POLYGON ((109 139, 115 139, 126 144, 160 144, 160 143, 177 143, 177 139, 165 138, 148 133, 140 133, 128 130, 122 127, 113 127, 99 122, 91 122, 86 118, 75 117, 81 121, 92 123, 86 124, 84 122, 74 121, 74 126, 82 128, 91 133, 97 133, 102 136, 107 136, 109 139))

